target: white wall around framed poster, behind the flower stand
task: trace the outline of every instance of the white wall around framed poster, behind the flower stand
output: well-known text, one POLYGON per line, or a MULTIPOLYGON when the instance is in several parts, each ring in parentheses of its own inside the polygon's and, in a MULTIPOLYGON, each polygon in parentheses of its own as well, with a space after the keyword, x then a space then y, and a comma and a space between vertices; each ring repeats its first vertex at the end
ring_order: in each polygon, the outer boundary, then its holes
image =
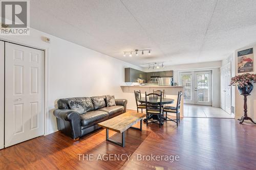
MULTIPOLYGON (((243 48, 240 48, 238 50, 235 51, 234 56, 235 56, 235 72, 236 75, 240 75, 238 74, 238 52, 241 50, 246 50, 247 48, 252 48, 253 47, 253 55, 254 55, 254 62, 253 62, 253 74, 256 74, 256 43, 253 43, 251 45, 245 46, 243 48)), ((256 83, 253 83, 254 86, 254 90, 252 90, 251 95, 247 96, 247 114, 249 117, 251 117, 254 121, 256 121, 256 90, 255 90, 255 86, 256 83)), ((236 87, 237 88, 237 87, 236 87)), ((244 113, 244 98, 242 95, 239 94, 238 90, 235 90, 236 93, 236 118, 240 118, 243 113, 244 113)))

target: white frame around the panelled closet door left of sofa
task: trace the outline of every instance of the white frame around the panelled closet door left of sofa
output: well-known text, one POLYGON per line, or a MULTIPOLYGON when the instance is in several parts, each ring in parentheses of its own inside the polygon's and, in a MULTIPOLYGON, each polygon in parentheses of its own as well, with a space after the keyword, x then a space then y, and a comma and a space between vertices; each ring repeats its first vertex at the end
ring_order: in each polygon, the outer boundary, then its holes
MULTIPOLYGON (((13 43, 13 44, 16 44, 16 45, 22 45, 22 46, 25 46, 25 47, 29 47, 29 48, 35 48, 37 50, 41 50, 41 51, 44 51, 44 135, 48 135, 49 134, 49 109, 48 109, 48 103, 47 103, 47 99, 48 99, 48 61, 49 61, 49 47, 47 46, 37 46, 37 45, 34 45, 33 43, 31 44, 27 44, 27 43, 24 43, 24 42, 21 42, 21 41, 17 41, 17 40, 8 40, 7 38, 3 38, 3 37, 0 37, 0 41, 3 41, 3 42, 9 42, 9 43, 13 43)), ((4 58, 5 58, 5 55, 4 55, 4 58)), ((4 69, 5 69, 5 64, 4 64, 4 69)), ((4 85, 4 89, 5 89, 5 85, 4 85)), ((5 91, 5 90, 4 90, 5 91)), ((4 98, 5 98, 5 95, 4 95, 4 98)), ((4 104, 5 104, 5 101, 4 101, 4 104)))

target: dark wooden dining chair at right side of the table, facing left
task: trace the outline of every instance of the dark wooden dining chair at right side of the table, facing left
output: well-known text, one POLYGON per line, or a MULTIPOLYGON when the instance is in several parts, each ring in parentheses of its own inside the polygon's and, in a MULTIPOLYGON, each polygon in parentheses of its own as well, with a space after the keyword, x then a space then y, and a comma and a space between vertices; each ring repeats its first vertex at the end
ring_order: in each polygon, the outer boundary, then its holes
POLYGON ((177 127, 178 124, 180 123, 180 103, 181 103, 181 95, 182 92, 178 92, 178 99, 177 99, 177 105, 176 107, 173 106, 163 106, 163 114, 165 112, 165 120, 164 121, 173 121, 176 123, 177 127), (176 119, 171 119, 167 117, 167 112, 168 113, 176 113, 176 119))

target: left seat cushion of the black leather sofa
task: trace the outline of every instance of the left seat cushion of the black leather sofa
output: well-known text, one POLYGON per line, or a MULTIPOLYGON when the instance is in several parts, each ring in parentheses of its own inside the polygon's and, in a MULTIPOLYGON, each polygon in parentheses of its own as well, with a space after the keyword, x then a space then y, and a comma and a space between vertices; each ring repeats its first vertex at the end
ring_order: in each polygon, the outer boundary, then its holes
POLYGON ((90 111, 84 114, 80 114, 81 126, 89 127, 96 125, 103 120, 106 120, 109 116, 109 113, 99 110, 90 111))

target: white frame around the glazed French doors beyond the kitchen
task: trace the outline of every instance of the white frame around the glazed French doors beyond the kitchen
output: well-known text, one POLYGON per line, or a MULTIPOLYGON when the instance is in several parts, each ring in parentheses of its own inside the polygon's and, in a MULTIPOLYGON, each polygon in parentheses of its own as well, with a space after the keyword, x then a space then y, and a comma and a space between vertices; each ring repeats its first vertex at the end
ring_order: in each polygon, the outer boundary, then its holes
MULTIPOLYGON (((177 75, 178 75, 178 83, 180 84, 180 76, 181 74, 191 74, 192 75, 192 84, 191 84, 191 93, 194 93, 193 96, 191 96, 191 102, 186 102, 186 104, 193 104, 193 105, 202 105, 202 104, 196 104, 196 98, 195 98, 195 75, 196 75, 196 72, 210 72, 211 73, 211 84, 210 84, 210 87, 211 87, 211 95, 210 95, 210 98, 211 98, 211 102, 209 105, 203 105, 203 106, 212 106, 212 103, 213 103, 213 99, 212 99, 212 69, 211 68, 207 68, 207 69, 189 69, 189 70, 179 70, 177 72, 177 75), (194 101, 194 102, 193 102, 194 101)), ((192 95, 192 94, 191 94, 192 95)))

